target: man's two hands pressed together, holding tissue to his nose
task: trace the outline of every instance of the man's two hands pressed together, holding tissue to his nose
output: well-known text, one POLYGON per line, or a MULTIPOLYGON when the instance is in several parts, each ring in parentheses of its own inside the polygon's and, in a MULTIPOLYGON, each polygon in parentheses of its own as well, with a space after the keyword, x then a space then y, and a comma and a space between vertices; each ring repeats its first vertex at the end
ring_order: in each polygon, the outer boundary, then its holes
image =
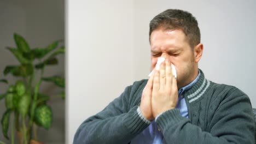
POLYGON ((172 74, 171 63, 161 63, 160 70, 154 70, 143 89, 141 105, 142 115, 152 121, 160 113, 174 109, 178 103, 177 81, 172 74))

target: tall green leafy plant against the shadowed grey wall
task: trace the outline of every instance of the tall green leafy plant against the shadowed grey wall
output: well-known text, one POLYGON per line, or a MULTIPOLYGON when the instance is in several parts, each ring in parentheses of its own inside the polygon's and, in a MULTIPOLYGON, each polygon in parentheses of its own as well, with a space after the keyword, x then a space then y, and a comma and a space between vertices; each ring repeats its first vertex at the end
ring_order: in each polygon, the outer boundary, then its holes
MULTIPOLYGON (((7 50, 13 53, 20 64, 7 65, 3 73, 4 76, 13 75, 18 80, 8 83, 7 79, 0 79, 1 85, 9 85, 7 91, 0 94, 0 100, 5 100, 6 107, 1 119, 2 133, 6 139, 11 139, 11 143, 15 142, 15 131, 19 143, 38 143, 35 127, 48 130, 53 121, 53 112, 47 105, 50 96, 40 93, 40 85, 45 81, 65 88, 65 79, 57 75, 44 77, 44 70, 48 65, 58 64, 56 56, 65 53, 65 47, 61 40, 56 40, 44 48, 31 49, 19 34, 14 34, 14 40, 17 47, 7 47, 7 50), (37 76, 37 73, 40 75, 37 76), (13 122, 10 122, 11 115, 14 116, 13 122), (11 138, 8 136, 10 124, 11 138)), ((64 89, 59 96, 65 99, 64 89)))

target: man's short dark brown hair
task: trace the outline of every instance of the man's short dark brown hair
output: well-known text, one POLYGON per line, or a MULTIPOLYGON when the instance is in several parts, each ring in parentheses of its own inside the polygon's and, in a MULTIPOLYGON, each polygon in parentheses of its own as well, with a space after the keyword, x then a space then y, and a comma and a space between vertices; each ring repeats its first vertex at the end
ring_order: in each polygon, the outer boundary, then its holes
POLYGON ((188 38, 189 45, 193 48, 200 43, 200 29, 196 18, 188 11, 167 9, 156 15, 149 23, 149 41, 151 33, 157 28, 182 29, 188 38))

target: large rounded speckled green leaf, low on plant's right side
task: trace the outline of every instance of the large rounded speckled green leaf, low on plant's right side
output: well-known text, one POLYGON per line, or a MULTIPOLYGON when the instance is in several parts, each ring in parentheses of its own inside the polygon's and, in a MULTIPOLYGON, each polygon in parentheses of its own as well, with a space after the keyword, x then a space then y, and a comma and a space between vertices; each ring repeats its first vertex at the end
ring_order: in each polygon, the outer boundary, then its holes
POLYGON ((36 108, 34 113, 34 121, 37 125, 44 127, 48 130, 53 122, 53 111, 48 105, 42 105, 36 108))

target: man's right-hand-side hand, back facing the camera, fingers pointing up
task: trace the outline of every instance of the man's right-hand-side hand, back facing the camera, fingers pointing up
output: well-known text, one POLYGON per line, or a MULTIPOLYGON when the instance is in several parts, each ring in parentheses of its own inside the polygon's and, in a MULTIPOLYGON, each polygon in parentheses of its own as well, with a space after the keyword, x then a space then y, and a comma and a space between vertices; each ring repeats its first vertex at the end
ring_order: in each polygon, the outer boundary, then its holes
POLYGON ((177 80, 172 74, 168 60, 162 62, 160 70, 154 74, 151 101, 154 118, 160 113, 174 109, 178 103, 177 80))

